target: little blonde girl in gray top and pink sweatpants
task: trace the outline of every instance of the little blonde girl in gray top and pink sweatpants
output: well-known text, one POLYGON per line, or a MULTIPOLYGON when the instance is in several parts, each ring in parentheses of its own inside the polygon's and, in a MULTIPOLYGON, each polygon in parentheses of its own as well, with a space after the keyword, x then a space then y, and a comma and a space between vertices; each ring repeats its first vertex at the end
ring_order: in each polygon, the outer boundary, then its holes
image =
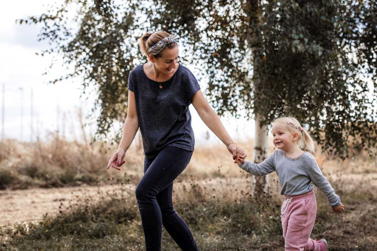
POLYGON ((244 161, 245 151, 239 149, 237 162, 241 169, 255 176, 276 171, 284 195, 281 207, 283 237, 286 251, 327 251, 325 239, 310 239, 316 221, 317 202, 312 182, 325 194, 335 213, 342 213, 344 205, 331 184, 323 176, 314 156, 302 151, 304 145, 314 154, 310 135, 293 117, 274 120, 273 143, 277 150, 260 164, 244 161))

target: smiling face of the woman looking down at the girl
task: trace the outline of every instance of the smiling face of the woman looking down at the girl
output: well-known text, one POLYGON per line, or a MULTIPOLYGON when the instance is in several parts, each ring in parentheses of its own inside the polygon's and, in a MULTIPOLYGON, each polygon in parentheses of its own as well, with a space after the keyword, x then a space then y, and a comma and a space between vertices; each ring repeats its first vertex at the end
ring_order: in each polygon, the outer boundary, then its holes
POLYGON ((155 66, 159 71, 170 75, 178 66, 178 46, 175 46, 172 49, 166 48, 162 50, 161 56, 158 58, 153 57, 151 62, 155 63, 155 66))

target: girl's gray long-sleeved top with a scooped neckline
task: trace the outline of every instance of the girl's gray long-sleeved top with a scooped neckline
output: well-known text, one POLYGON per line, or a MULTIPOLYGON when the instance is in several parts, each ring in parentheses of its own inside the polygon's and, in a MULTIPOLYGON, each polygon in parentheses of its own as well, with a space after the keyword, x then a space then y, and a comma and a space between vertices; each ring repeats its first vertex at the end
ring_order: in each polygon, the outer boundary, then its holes
POLYGON ((255 176, 265 176, 276 171, 282 195, 295 196, 310 192, 314 189, 313 182, 325 194, 331 207, 336 208, 341 204, 339 195, 323 176, 316 158, 309 152, 289 158, 283 150, 277 149, 262 163, 245 161, 240 168, 255 176))

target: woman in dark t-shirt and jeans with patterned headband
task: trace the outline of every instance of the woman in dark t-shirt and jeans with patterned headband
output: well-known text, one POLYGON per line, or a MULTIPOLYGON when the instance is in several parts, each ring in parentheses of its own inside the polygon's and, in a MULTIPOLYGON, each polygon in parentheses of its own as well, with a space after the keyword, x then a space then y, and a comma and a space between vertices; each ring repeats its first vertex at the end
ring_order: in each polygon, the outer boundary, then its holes
POLYGON ((189 164, 194 151, 189 105, 236 158, 232 141, 208 105, 196 78, 178 64, 178 38, 167 32, 145 33, 139 46, 149 59, 130 72, 128 112, 118 150, 107 169, 121 170, 124 155, 140 127, 144 176, 136 187, 146 250, 161 250, 162 225, 182 250, 198 250, 189 227, 173 209, 173 181, 189 164))

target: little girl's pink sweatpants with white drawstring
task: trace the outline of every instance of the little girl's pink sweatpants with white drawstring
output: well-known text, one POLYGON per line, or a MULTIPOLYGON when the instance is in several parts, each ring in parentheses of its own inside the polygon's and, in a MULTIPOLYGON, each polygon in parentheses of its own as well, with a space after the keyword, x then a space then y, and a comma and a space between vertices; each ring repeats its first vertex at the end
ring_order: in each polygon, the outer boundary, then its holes
POLYGON ((317 201, 314 191, 284 196, 281 207, 283 237, 286 251, 320 251, 316 240, 310 239, 317 215, 317 201))

